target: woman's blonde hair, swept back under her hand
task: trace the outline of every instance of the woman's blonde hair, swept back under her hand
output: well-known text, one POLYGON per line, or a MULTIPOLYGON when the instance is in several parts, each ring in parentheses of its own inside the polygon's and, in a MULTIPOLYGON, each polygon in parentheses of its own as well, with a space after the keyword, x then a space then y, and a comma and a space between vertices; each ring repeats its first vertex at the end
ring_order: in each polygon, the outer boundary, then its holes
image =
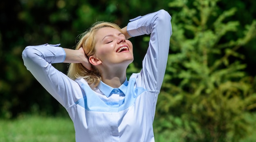
MULTIPOLYGON (((85 31, 79 36, 79 42, 76 44, 76 50, 78 50, 80 47, 83 47, 83 50, 85 51, 85 55, 87 57, 90 57, 91 55, 95 54, 95 44, 96 44, 96 33, 99 31, 99 29, 103 27, 112 27, 114 29, 121 31, 121 28, 111 22, 96 22, 92 25, 90 29, 85 31)), ((70 63, 67 76, 73 80, 76 78, 83 78, 85 79, 88 84, 91 87, 97 87, 99 85, 99 82, 101 80, 101 75, 99 73, 99 70, 92 66, 92 71, 86 69, 81 63, 70 63)))

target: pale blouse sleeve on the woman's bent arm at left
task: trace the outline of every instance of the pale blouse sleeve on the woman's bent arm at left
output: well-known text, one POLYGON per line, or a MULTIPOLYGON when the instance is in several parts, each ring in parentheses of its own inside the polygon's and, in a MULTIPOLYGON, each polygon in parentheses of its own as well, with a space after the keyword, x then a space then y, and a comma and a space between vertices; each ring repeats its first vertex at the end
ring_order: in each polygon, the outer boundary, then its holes
POLYGON ((28 46, 22 52, 22 58, 27 70, 36 80, 61 105, 69 107, 82 97, 82 92, 79 84, 52 66, 53 63, 61 63, 65 60, 65 51, 58 47, 59 45, 28 46))

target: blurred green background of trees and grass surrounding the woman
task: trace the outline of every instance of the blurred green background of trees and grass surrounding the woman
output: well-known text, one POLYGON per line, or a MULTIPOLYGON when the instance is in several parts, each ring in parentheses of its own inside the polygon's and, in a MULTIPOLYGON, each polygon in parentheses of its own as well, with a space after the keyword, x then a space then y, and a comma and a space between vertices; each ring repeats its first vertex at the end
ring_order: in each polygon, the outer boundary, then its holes
MULTIPOLYGON (((154 121, 156 142, 256 141, 255 0, 1 0, 0 141, 74 141, 65 109, 23 65, 28 45, 74 49, 96 21, 125 27, 165 9, 172 16, 166 75, 154 121)), ((132 38, 141 69, 148 36, 132 38)), ((54 64, 67 72, 67 64, 54 64)))

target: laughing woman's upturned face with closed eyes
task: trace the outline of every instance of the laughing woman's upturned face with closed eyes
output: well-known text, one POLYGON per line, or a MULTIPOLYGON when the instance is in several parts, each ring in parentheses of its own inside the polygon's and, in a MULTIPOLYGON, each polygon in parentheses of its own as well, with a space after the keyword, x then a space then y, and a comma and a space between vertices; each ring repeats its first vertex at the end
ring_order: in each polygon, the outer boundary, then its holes
POLYGON ((103 66, 128 65, 133 61, 132 43, 123 33, 111 27, 99 29, 96 33, 95 58, 103 66))

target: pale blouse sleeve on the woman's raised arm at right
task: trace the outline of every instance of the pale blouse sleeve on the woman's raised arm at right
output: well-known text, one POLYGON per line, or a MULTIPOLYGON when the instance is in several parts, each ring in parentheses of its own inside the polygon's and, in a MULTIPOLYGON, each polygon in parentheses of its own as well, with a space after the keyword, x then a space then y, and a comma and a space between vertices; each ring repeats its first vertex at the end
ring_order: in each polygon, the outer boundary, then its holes
MULTIPOLYGON (((165 10, 149 13, 130 20, 127 31, 130 36, 150 34, 147 53, 142 61, 142 70, 131 76, 137 78, 137 87, 160 91, 166 70, 170 37, 171 16, 165 10)), ((134 47, 136 48, 136 47, 134 47)))

